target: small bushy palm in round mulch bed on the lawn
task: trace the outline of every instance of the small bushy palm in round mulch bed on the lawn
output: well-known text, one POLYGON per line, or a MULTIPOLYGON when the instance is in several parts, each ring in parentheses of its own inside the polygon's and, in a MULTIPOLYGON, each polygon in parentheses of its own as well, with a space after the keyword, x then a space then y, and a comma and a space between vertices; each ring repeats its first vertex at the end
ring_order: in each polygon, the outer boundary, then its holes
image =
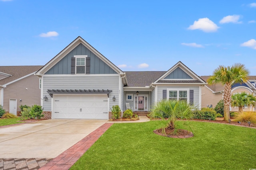
POLYGON ((176 120, 192 118, 192 109, 194 106, 185 100, 161 100, 151 110, 150 118, 160 118, 164 121, 162 133, 165 133, 165 128, 167 128, 173 130, 172 135, 178 135, 176 120))

